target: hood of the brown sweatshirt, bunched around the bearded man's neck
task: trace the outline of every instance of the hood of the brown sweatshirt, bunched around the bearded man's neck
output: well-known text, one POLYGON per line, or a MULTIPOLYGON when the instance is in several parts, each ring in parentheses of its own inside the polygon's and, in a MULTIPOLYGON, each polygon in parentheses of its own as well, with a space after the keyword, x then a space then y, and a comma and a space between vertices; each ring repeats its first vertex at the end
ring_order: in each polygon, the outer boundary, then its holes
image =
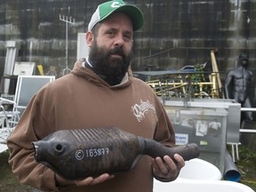
POLYGON ((96 84, 96 85, 102 86, 102 87, 108 87, 111 89, 124 88, 126 86, 129 86, 132 83, 133 77, 132 77, 131 69, 128 70, 128 72, 127 72, 126 76, 124 76, 124 79, 121 82, 121 84, 116 84, 116 85, 111 86, 106 81, 104 81, 102 78, 100 78, 100 76, 95 74, 90 68, 85 68, 84 62, 85 62, 85 59, 77 60, 71 73, 76 76, 83 77, 87 81, 90 81, 92 84, 96 84))

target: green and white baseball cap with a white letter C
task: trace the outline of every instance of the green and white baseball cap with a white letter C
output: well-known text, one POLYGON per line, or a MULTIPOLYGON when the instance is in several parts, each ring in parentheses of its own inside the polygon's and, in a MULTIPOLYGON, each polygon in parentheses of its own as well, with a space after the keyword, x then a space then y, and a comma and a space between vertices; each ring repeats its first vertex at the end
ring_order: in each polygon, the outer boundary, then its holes
POLYGON ((116 0, 108 1, 98 6, 97 10, 92 15, 91 21, 89 22, 88 31, 91 31, 98 22, 107 19, 108 16, 114 12, 123 12, 127 14, 132 20, 134 31, 142 28, 144 17, 140 9, 132 4, 125 4, 122 0, 116 0))

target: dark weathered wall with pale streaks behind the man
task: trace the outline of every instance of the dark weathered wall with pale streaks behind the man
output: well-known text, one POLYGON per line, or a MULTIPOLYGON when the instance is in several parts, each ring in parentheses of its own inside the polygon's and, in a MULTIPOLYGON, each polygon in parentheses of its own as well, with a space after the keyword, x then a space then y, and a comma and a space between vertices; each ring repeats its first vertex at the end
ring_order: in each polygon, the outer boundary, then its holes
MULTIPOLYGON (((0 72, 6 41, 20 44, 19 61, 35 61, 44 70, 66 63, 66 24, 59 15, 76 20, 68 27, 68 68, 76 60, 77 33, 86 31, 92 12, 102 0, 1 0, 0 72)), ((134 70, 178 69, 208 62, 216 54, 221 78, 236 68, 240 52, 250 53, 255 70, 256 0, 127 0, 145 14, 145 26, 135 35, 134 70)))

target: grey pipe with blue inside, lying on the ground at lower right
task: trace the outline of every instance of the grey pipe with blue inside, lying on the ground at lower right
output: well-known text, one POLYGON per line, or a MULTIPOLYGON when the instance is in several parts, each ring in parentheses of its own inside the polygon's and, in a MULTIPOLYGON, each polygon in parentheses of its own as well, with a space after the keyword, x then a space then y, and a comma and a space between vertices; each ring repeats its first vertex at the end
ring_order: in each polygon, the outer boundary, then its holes
POLYGON ((241 174, 238 171, 236 164, 233 162, 232 157, 228 153, 228 150, 226 149, 225 152, 225 162, 224 162, 224 178, 226 180, 230 181, 240 181, 241 180, 241 174))

